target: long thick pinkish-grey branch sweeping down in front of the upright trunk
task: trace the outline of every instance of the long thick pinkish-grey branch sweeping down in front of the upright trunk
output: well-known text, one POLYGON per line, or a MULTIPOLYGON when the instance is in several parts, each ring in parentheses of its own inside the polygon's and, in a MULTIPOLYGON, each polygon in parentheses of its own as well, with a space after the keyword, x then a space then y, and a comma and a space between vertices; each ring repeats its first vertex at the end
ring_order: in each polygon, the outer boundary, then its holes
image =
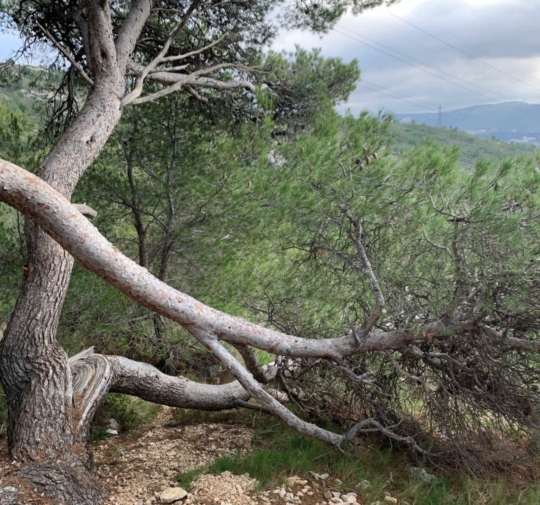
MULTIPOLYGON (((251 345, 281 356, 341 359, 360 352, 401 349, 411 343, 479 328, 476 320, 448 325, 436 321, 421 331, 369 332, 360 344, 353 335, 330 339, 286 335, 215 310, 159 281, 107 242, 56 190, 7 161, 0 161, 0 201, 35 221, 83 267, 191 333, 208 331, 227 342, 251 345)), ((507 339, 504 344, 517 349, 540 350, 539 342, 507 339)))

